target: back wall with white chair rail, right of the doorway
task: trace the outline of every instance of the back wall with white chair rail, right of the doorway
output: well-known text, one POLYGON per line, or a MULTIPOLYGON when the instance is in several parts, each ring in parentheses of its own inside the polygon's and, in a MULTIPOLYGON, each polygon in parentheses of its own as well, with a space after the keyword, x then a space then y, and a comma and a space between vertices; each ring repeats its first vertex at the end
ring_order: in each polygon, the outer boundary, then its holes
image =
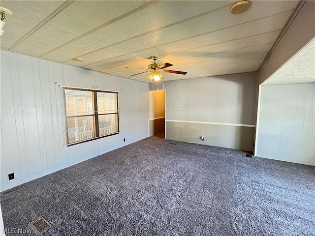
POLYGON ((253 151, 256 84, 251 72, 156 85, 166 89, 166 139, 253 151))

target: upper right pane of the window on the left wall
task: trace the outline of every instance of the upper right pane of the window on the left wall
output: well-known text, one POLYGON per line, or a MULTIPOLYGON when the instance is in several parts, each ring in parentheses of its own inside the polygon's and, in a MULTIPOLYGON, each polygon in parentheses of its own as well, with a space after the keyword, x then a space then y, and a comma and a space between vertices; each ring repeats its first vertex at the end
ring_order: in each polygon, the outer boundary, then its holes
POLYGON ((117 113, 117 93, 97 92, 98 114, 117 113))

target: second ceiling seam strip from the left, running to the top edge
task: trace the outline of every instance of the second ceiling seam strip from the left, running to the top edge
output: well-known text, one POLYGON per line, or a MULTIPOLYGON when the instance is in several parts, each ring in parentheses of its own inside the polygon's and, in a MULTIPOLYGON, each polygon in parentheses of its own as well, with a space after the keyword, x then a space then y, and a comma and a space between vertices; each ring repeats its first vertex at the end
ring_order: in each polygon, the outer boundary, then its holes
POLYGON ((46 52, 46 53, 40 55, 39 57, 44 57, 44 56, 46 56, 47 54, 50 54, 50 53, 52 53, 52 52, 54 52, 54 51, 56 51, 56 50, 58 50, 58 49, 61 49, 61 48, 63 48, 64 46, 66 46, 66 45, 68 45, 68 44, 70 44, 70 43, 73 43, 73 42, 79 40, 80 38, 83 38, 83 37, 85 37, 85 36, 87 36, 87 35, 89 35, 89 34, 95 32, 95 31, 97 31, 97 30, 99 30, 99 29, 102 29, 102 28, 104 28, 104 27, 106 27, 106 26, 109 26, 109 25, 111 25, 111 24, 113 24, 113 23, 115 23, 115 22, 117 22, 117 21, 120 21, 120 20, 126 18, 127 16, 132 15, 132 14, 134 14, 134 13, 140 11, 140 10, 143 10, 143 9, 145 9, 145 8, 147 8, 147 7, 149 7, 149 6, 153 5, 153 4, 155 4, 155 3, 157 3, 157 2, 159 2, 159 1, 150 1, 150 2, 148 2, 147 4, 144 4, 144 5, 142 5, 142 6, 139 6, 139 7, 135 8, 135 9, 133 9, 133 10, 131 10, 131 11, 128 11, 127 13, 125 13, 125 14, 119 16, 119 17, 116 17, 116 18, 113 19, 113 20, 110 20, 110 21, 108 21, 108 22, 106 22, 106 23, 104 23, 104 24, 102 24, 102 25, 100 25, 100 26, 98 26, 98 27, 96 27, 96 28, 94 28, 94 29, 91 29, 91 30, 88 31, 88 32, 85 32, 85 33, 81 34, 80 36, 78 36, 78 37, 76 37, 76 38, 74 38, 74 39, 71 39, 70 41, 68 41, 68 42, 66 42, 66 43, 63 43, 62 45, 58 46, 57 48, 54 48, 54 49, 52 49, 52 50, 50 50, 50 51, 48 51, 48 52, 46 52))

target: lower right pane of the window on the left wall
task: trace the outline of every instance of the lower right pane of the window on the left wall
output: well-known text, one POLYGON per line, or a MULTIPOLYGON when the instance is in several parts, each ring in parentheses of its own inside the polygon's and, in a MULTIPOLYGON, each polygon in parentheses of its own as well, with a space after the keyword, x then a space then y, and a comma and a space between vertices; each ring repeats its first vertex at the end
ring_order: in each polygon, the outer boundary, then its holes
POLYGON ((118 132, 118 115, 99 115, 98 116, 98 130, 99 136, 112 134, 118 132))

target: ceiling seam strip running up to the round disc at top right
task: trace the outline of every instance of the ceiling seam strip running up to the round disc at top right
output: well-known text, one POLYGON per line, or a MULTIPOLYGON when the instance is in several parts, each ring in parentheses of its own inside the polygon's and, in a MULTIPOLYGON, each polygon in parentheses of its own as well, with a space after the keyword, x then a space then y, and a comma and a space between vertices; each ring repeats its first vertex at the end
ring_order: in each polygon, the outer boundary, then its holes
MULTIPOLYGON (((213 12, 216 12, 216 11, 220 11, 220 10, 226 8, 226 7, 229 7, 230 5, 231 5, 231 4, 227 4, 227 5, 221 6, 221 7, 219 7, 219 8, 216 8, 216 9, 214 9, 214 10, 207 11, 207 12, 203 12, 203 13, 201 13, 201 14, 198 14, 198 15, 195 15, 195 16, 191 16, 191 17, 186 18, 186 19, 184 19, 184 20, 174 22, 174 23, 169 24, 169 25, 167 25, 167 26, 163 26, 163 27, 160 27, 160 28, 158 28, 158 29, 153 29, 153 30, 150 30, 150 31, 148 31, 148 32, 144 32, 144 33, 138 34, 138 35, 136 35, 136 36, 133 36, 133 37, 131 37, 131 38, 126 38, 126 39, 124 39, 124 40, 122 40, 122 41, 113 43, 113 44, 111 44, 111 45, 107 45, 107 46, 105 46, 105 47, 96 49, 96 50, 91 51, 91 52, 86 53, 86 54, 82 54, 82 55, 77 56, 77 57, 75 57, 75 58, 81 58, 81 57, 87 56, 87 55, 89 55, 89 54, 98 52, 98 51, 100 51, 100 50, 103 50, 103 49, 106 49, 106 48, 110 48, 110 47, 113 47, 113 46, 118 45, 118 44, 121 44, 121 43, 125 43, 125 42, 127 42, 127 41, 129 41, 129 40, 136 39, 136 38, 142 37, 142 36, 144 36, 144 35, 157 32, 157 31, 162 30, 162 29, 167 29, 167 28, 169 28, 169 27, 179 25, 179 24, 181 24, 181 23, 183 23, 183 22, 186 22, 186 21, 189 21, 189 20, 192 20, 192 19, 195 19, 195 18, 204 16, 204 15, 207 15, 207 14, 210 14, 210 13, 213 13, 213 12)), ((68 62, 68 61, 70 61, 70 60, 72 60, 72 59, 65 60, 65 61, 63 61, 63 63, 68 62)))

